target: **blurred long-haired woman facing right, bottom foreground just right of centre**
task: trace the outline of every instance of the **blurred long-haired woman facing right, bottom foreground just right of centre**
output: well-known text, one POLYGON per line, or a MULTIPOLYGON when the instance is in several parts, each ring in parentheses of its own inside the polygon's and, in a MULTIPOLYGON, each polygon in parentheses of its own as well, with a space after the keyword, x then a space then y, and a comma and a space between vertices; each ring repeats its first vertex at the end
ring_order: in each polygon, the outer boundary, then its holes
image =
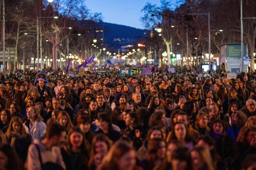
POLYGON ((143 169, 152 170, 163 163, 166 152, 166 144, 161 138, 153 138, 148 141, 146 159, 140 161, 143 169))

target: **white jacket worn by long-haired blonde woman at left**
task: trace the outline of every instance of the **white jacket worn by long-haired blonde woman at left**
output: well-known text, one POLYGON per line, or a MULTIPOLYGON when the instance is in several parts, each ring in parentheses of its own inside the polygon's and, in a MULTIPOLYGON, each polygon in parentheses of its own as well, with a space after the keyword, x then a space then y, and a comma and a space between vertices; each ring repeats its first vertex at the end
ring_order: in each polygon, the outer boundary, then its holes
POLYGON ((32 138, 32 141, 34 139, 38 139, 41 140, 44 137, 45 131, 46 131, 46 124, 44 122, 37 122, 35 121, 34 123, 34 130, 33 130, 33 134, 30 134, 30 129, 29 127, 30 122, 27 121, 25 123, 23 123, 24 128, 26 129, 27 134, 32 138))

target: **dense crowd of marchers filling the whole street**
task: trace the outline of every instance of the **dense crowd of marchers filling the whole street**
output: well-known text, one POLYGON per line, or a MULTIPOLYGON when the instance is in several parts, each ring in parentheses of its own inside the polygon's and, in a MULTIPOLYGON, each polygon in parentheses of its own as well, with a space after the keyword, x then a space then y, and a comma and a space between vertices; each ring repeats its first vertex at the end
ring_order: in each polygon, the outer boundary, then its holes
POLYGON ((200 75, 8 74, 0 169, 255 169, 256 73, 200 75))

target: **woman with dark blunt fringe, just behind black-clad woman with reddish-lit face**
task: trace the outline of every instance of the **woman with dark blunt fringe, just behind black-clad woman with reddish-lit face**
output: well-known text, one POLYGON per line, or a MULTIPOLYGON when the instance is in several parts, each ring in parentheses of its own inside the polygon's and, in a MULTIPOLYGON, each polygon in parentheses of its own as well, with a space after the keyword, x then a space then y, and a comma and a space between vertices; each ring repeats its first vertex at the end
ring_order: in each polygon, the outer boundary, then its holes
POLYGON ((91 117, 88 114, 80 115, 76 119, 77 127, 81 129, 84 134, 85 139, 91 144, 94 133, 91 129, 91 117))

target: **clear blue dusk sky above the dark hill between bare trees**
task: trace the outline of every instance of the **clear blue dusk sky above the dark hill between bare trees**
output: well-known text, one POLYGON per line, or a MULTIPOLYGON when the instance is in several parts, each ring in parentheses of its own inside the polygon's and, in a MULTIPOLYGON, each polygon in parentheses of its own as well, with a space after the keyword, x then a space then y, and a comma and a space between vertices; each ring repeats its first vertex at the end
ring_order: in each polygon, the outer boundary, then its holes
POLYGON ((140 22, 141 9, 147 2, 161 4, 160 0, 85 0, 92 12, 101 12, 104 22, 144 29, 140 22))

